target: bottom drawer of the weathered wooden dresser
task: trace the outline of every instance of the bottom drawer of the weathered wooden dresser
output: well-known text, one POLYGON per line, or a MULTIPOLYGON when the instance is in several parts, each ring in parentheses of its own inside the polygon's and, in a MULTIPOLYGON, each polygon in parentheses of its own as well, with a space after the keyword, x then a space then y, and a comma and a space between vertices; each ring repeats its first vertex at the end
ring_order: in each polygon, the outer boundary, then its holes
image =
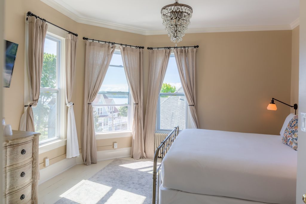
POLYGON ((32 197, 32 183, 29 183, 25 187, 9 193, 4 198, 6 204, 18 203, 24 204, 28 203, 32 197))

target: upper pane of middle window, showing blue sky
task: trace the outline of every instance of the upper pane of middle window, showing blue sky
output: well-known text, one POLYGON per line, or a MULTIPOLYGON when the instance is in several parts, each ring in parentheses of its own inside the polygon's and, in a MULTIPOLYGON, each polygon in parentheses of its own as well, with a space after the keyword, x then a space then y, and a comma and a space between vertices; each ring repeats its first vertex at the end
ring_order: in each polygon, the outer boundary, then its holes
POLYGON ((118 51, 114 53, 100 91, 129 91, 120 51, 119 53, 118 51))

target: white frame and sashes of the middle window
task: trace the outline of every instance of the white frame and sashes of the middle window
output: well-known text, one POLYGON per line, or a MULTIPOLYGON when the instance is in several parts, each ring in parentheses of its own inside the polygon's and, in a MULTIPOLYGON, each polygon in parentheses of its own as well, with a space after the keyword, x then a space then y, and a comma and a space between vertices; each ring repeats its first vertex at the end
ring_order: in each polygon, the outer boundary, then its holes
MULTIPOLYGON (((120 54, 121 55, 121 51, 120 50, 115 50, 114 54, 120 54)), ((109 67, 120 67, 123 68, 123 66, 121 65, 109 65, 109 67)), ((111 106, 128 106, 128 130, 114 130, 114 131, 105 131, 105 132, 95 132, 96 135, 96 139, 108 139, 108 138, 115 138, 115 137, 130 137, 132 136, 132 113, 133 113, 133 106, 132 106, 132 95, 130 93, 130 91, 128 92, 123 92, 123 91, 103 91, 103 94, 128 94, 128 104, 94 104, 92 103, 92 106, 106 106, 107 108, 111 107, 111 106), (109 135, 110 134, 110 135, 109 135)), ((113 108, 114 109, 114 108, 113 108)))

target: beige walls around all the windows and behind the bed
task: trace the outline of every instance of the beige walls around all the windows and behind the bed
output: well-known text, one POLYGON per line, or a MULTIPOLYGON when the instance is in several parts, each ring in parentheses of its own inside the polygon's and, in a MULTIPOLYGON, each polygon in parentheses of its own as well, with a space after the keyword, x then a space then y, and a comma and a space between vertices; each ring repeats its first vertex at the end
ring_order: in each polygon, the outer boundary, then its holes
MULTIPOLYGON (((24 29, 25 13, 33 13, 79 34, 76 80, 72 101, 81 148, 84 94, 83 36, 144 45, 144 102, 147 97, 147 46, 173 46, 167 35, 144 36, 79 24, 39 0, 6 1, 5 39, 19 44, 10 88, 3 88, 3 111, 7 124, 18 129, 24 111, 24 29)), ((294 32, 294 31, 293 31, 294 32)), ((278 134, 289 107, 266 109, 271 98, 290 101, 292 31, 258 31, 186 34, 179 45, 199 45, 197 55, 197 104, 200 128, 236 132, 278 134)), ((131 138, 101 139, 98 150, 130 147, 131 138), (119 141, 119 142, 118 142, 119 141)), ((65 146, 40 155, 50 164, 65 158, 65 146)))

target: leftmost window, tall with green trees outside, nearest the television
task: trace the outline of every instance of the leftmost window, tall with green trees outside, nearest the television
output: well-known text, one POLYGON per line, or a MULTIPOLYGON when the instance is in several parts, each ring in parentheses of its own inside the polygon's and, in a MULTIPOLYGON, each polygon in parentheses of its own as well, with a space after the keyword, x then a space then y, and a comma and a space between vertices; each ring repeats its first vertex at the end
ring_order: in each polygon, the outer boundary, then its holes
POLYGON ((46 35, 40 95, 37 106, 33 108, 35 131, 41 133, 40 144, 60 137, 60 105, 65 103, 65 98, 61 96, 65 93, 60 83, 62 41, 63 39, 49 32, 46 35))

